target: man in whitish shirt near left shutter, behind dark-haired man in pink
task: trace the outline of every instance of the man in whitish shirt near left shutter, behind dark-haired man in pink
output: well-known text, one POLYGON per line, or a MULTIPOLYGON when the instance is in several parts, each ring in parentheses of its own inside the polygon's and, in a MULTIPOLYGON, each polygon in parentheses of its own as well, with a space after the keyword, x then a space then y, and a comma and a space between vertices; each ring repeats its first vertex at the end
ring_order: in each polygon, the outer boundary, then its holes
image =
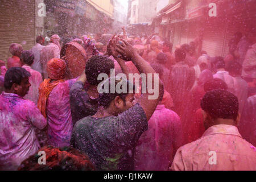
POLYGON ((45 47, 44 45, 44 38, 43 36, 38 36, 36 38, 36 45, 32 47, 31 51, 35 56, 34 63, 32 64, 31 68, 39 73, 43 73, 42 63, 40 62, 40 52, 45 47))

